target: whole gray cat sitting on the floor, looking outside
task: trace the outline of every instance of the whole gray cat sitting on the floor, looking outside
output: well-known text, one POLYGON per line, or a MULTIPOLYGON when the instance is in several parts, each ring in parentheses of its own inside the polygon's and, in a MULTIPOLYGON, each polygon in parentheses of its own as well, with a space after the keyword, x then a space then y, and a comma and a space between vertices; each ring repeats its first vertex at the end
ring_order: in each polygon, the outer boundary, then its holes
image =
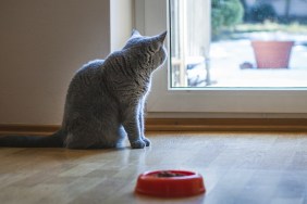
POLYGON ((2 137, 0 146, 116 148, 126 136, 133 149, 150 145, 144 135, 144 105, 151 75, 167 59, 165 36, 167 31, 145 37, 134 30, 122 50, 77 71, 59 131, 49 137, 2 137))

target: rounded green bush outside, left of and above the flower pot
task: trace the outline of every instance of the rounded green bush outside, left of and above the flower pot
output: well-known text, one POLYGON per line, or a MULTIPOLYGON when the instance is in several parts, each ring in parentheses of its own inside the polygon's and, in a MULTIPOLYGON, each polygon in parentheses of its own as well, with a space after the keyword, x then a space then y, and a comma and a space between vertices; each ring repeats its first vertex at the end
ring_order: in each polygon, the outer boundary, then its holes
POLYGON ((244 9, 240 0, 212 0, 212 34, 218 35, 222 27, 234 26, 242 22, 244 9))

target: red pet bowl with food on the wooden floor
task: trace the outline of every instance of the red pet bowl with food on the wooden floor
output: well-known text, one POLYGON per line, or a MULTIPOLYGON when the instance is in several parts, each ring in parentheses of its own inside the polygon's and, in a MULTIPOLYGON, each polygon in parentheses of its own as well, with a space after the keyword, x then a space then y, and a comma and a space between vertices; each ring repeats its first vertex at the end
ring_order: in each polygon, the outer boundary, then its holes
POLYGON ((193 196, 205 193, 201 175, 186 170, 147 171, 138 176, 135 192, 163 197, 193 196))

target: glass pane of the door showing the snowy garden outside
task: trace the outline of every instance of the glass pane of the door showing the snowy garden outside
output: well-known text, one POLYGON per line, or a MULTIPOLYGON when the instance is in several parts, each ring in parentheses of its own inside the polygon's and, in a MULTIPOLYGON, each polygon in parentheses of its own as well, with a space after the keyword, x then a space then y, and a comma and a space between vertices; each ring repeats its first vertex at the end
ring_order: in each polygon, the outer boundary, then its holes
POLYGON ((307 0, 170 0, 171 88, 306 88, 307 0))

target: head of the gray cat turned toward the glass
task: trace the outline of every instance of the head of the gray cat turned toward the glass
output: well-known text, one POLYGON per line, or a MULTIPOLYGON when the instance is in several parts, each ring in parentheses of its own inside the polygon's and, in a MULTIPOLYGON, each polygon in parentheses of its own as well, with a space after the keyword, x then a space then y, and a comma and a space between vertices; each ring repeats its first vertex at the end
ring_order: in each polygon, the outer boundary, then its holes
POLYGON ((152 71, 160 67, 167 60, 167 50, 164 48, 164 39, 167 31, 148 37, 142 36, 136 29, 133 30, 131 38, 127 40, 123 49, 128 49, 140 56, 138 60, 145 63, 152 71))

